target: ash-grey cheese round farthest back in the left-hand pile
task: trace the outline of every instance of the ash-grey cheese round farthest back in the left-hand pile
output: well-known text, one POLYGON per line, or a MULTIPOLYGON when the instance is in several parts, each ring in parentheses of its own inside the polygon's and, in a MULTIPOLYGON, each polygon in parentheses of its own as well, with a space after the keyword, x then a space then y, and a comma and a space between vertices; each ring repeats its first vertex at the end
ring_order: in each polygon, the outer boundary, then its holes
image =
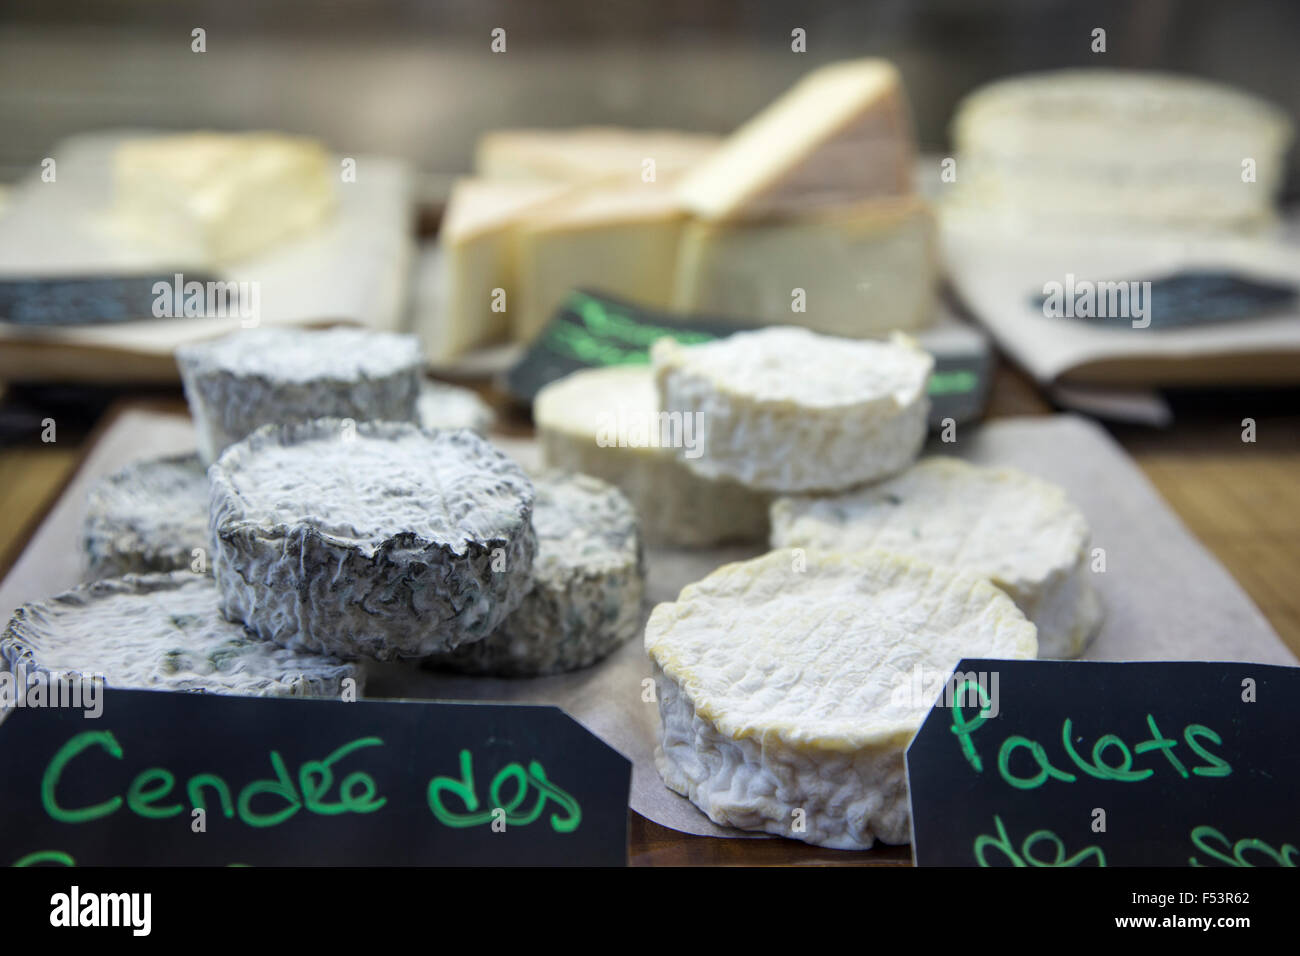
POLYGON ((261 425, 415 421, 424 364, 415 336, 350 328, 246 329, 176 360, 204 464, 261 425))

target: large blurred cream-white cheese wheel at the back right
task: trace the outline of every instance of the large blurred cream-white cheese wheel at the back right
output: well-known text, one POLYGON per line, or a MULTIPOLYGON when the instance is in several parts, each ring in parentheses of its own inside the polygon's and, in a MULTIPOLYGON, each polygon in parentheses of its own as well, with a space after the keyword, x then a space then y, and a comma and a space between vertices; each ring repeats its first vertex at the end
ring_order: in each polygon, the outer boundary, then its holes
MULTIPOLYGON (((1252 232, 1275 216, 1295 122, 1222 83, 1065 69, 987 83, 952 122, 962 174, 948 209, 1024 237, 1252 232), (1243 189, 1243 161, 1252 177, 1243 189)), ((1096 239, 1093 239, 1096 242, 1096 239)))

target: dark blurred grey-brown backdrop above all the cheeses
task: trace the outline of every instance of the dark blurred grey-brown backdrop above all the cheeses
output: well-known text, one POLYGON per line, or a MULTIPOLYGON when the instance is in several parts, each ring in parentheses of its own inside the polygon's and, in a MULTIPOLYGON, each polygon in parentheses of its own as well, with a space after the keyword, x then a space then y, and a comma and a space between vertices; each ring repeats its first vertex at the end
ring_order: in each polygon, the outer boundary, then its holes
MULTIPOLYGON (((979 83, 1069 65, 1195 73, 1295 116, 1297 39, 1295 0, 4 0, 0 178, 68 134, 134 125, 302 131, 436 181, 467 170, 490 127, 727 131, 811 66, 867 53, 902 69, 926 150, 945 148, 979 83), (205 53, 190 49, 195 27, 205 53)), ((1294 150, 1291 198, 1297 183, 1294 150)))

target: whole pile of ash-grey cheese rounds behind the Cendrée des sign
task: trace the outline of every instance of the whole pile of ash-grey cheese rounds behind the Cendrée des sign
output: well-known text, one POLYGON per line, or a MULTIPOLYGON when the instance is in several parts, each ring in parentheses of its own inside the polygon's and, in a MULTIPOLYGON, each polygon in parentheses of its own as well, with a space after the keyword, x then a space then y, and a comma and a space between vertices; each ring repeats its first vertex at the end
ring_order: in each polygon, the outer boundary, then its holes
POLYGON ((339 659, 556 674, 637 633, 628 501, 582 475, 534 485, 474 433, 493 416, 473 393, 421 386, 413 339, 242 332, 179 358, 217 460, 146 459, 101 480, 84 549, 104 580, 25 607, 14 659, 120 685, 334 693, 316 675, 351 674, 339 659), (117 576, 170 568, 188 571, 117 576), (307 676, 269 676, 295 662, 307 676))

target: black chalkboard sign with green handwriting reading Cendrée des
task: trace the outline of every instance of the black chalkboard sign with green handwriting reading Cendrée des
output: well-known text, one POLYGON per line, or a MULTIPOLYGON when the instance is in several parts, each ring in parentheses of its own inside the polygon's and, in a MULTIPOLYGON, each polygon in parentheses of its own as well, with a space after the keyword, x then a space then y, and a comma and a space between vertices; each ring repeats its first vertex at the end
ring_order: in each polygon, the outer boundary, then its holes
POLYGON ((630 762, 550 706, 107 689, 0 766, 5 865, 627 864, 630 762))

